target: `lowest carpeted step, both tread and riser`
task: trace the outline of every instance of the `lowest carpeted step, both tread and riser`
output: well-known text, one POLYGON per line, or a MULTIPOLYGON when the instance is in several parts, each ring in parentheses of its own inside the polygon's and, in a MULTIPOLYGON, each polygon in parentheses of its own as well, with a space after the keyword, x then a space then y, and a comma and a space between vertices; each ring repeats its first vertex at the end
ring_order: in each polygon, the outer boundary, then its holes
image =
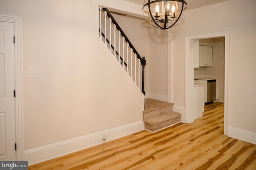
POLYGON ((181 113, 171 112, 145 119, 144 123, 145 129, 154 132, 179 121, 181 121, 181 113))

